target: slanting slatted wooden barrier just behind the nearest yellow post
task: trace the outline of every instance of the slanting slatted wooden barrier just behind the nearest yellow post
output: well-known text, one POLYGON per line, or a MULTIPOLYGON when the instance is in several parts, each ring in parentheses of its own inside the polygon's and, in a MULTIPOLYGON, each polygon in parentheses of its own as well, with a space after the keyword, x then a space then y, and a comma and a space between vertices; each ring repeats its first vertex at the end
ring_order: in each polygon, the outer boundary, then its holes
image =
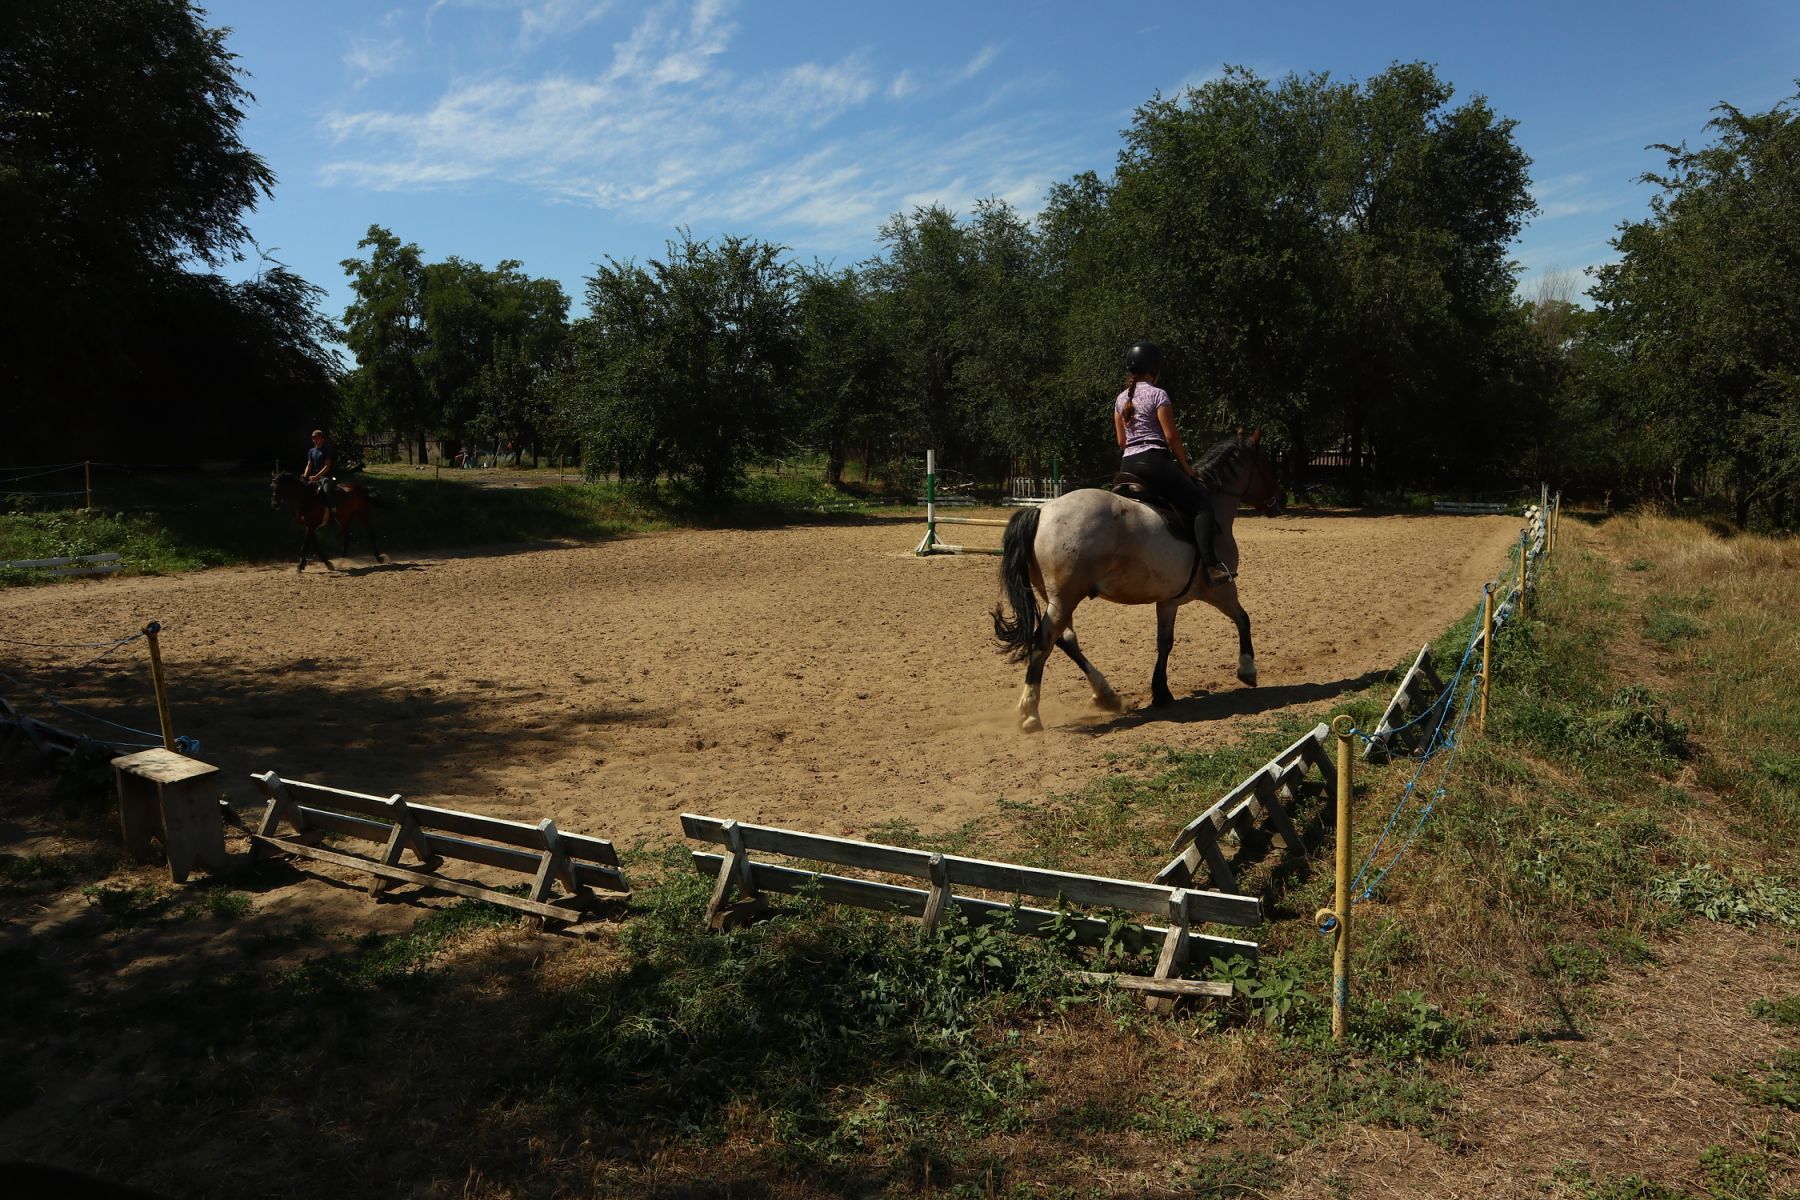
MULTIPOLYGON (((1220 892, 1237 892, 1237 869, 1224 853, 1228 835, 1237 837, 1240 851, 1247 840, 1267 838, 1289 855, 1305 858, 1307 842, 1294 824, 1291 806, 1309 788, 1327 799, 1336 797, 1336 768, 1325 748, 1330 732, 1325 723, 1314 725, 1190 820, 1168 847, 1174 858, 1156 873, 1156 882, 1165 887, 1192 887, 1206 880, 1220 892), (1309 781, 1309 770, 1318 770, 1319 781, 1309 781)), ((1325 811, 1332 811, 1330 806, 1325 811)))

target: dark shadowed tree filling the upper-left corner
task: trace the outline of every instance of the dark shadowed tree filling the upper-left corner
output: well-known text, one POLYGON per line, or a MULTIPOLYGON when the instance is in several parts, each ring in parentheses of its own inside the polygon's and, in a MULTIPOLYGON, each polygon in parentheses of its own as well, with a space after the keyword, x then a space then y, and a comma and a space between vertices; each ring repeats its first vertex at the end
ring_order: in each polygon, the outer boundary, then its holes
POLYGON ((0 412, 14 434, 0 453, 248 455, 328 416, 337 362, 317 291, 279 264, 236 286, 189 270, 241 259, 247 214, 275 184, 239 139, 252 97, 225 36, 185 0, 0 9, 0 412), (205 324, 173 327, 175 313, 205 324), (169 412, 194 414, 196 443, 166 444, 169 412))

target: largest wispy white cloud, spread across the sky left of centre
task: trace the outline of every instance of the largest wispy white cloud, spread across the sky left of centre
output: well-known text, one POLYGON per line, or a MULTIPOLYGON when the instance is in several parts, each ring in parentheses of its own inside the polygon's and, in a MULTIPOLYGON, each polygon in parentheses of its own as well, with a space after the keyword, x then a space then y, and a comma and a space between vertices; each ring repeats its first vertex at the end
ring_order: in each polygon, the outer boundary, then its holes
MULTIPOLYGON (((963 131, 862 131, 846 121, 882 83, 862 54, 756 74, 727 65, 734 34, 722 0, 659 4, 594 74, 490 74, 452 85, 421 112, 340 112, 328 184, 436 189, 504 182, 542 196, 657 223, 736 225, 781 239, 862 241, 918 203, 967 210, 1003 196, 1030 210, 1075 166, 1066 131, 1022 117, 961 119, 963 131)), ((986 47, 938 83, 967 81, 986 47)), ((999 85, 1006 86, 1004 81, 999 85)))

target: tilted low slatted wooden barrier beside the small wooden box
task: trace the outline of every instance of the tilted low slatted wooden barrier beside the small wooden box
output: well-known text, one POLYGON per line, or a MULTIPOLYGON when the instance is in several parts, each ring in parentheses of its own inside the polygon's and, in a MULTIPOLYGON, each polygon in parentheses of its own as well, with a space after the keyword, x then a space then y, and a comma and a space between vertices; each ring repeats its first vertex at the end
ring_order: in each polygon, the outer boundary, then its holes
POLYGON ((526 824, 463 813, 454 808, 409 804, 400 795, 365 795, 317 783, 283 779, 275 772, 250 775, 268 797, 263 822, 250 840, 266 849, 301 855, 376 876, 369 894, 380 896, 392 883, 418 883, 437 892, 473 896, 488 903, 529 912, 545 921, 576 923, 599 900, 628 900, 632 891, 619 873, 612 842, 563 833, 553 820, 526 824), (283 833, 286 822, 293 833, 283 833), (324 849, 326 835, 382 846, 380 858, 324 849), (412 851, 418 865, 401 865, 412 851), (526 896, 493 885, 439 873, 445 860, 473 862, 531 878, 526 896), (556 896, 562 883, 563 896, 556 896), (596 896, 592 889, 608 892, 596 896))

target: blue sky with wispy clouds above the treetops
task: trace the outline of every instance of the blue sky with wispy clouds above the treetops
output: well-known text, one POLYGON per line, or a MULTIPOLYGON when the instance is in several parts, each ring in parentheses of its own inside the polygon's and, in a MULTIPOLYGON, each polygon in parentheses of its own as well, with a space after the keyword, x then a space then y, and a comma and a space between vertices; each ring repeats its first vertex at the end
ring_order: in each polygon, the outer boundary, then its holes
POLYGON ((1699 144, 1714 104, 1760 112, 1800 76, 1793 0, 218 0, 207 23, 232 31, 243 135, 279 176, 252 234, 333 317, 369 225, 428 259, 520 259, 580 311, 594 263, 657 255, 677 225, 851 264, 913 205, 1035 212, 1111 173, 1138 104, 1226 63, 1364 79, 1397 59, 1519 122, 1530 295, 1647 212, 1647 144, 1699 144))

